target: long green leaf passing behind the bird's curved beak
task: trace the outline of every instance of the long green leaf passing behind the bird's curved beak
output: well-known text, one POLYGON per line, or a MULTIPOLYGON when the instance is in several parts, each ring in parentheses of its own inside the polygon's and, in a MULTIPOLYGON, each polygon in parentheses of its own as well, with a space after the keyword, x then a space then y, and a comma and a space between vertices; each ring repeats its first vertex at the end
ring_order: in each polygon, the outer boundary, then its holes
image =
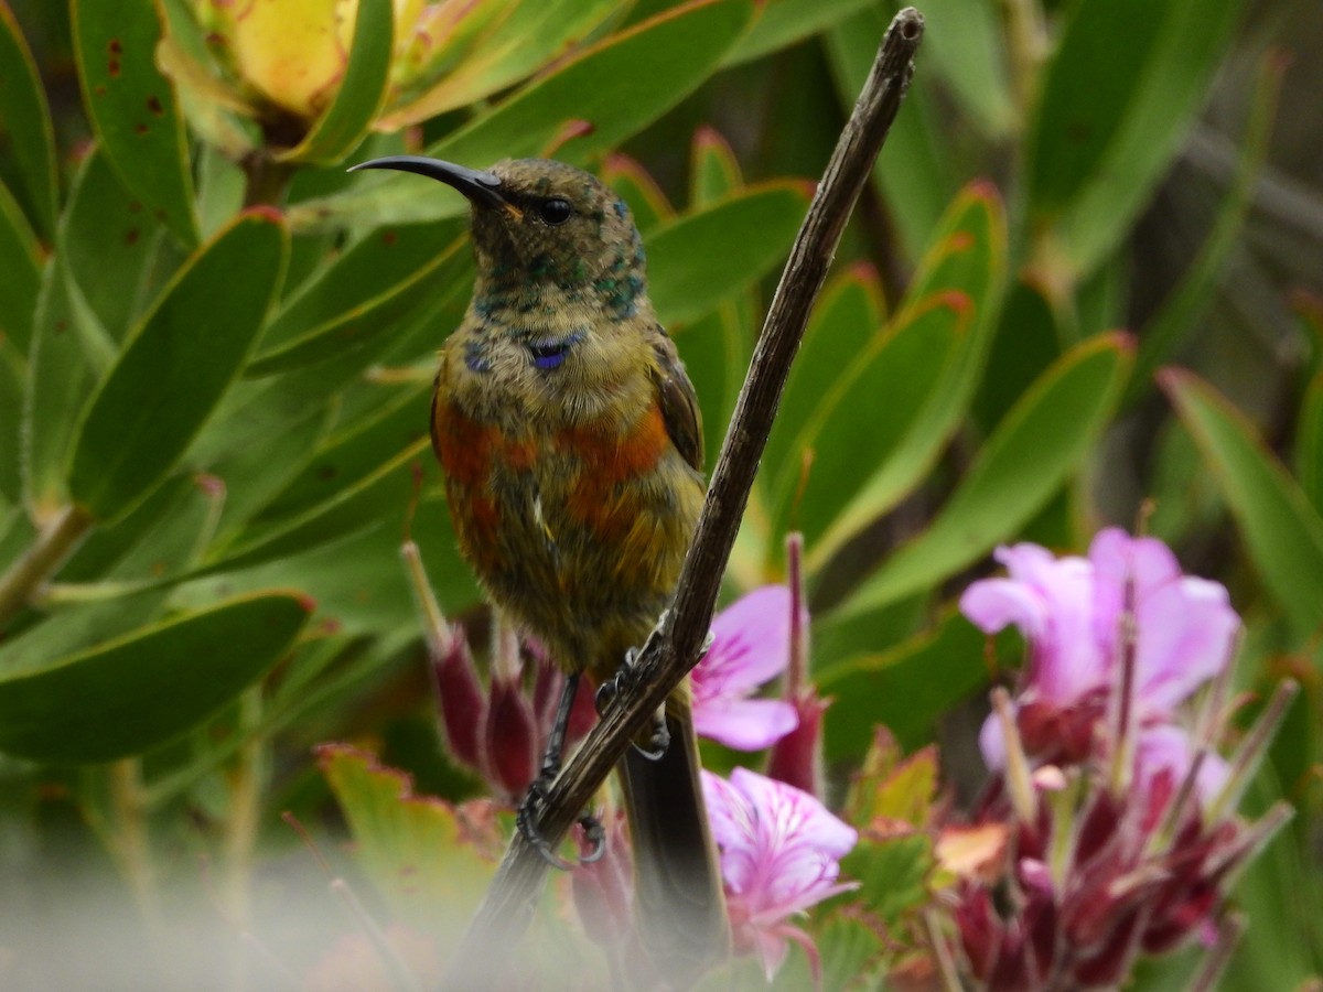
MULTIPOLYGON (((427 155, 474 167, 536 156, 564 138, 568 124, 586 120, 593 130, 556 152, 558 159, 582 165, 692 93, 751 16, 750 0, 681 4, 585 49, 431 145, 427 155)), ((409 224, 463 210, 463 197, 439 183, 384 175, 365 176, 343 196, 299 204, 290 210, 290 222, 296 230, 337 226, 345 220, 409 224)))

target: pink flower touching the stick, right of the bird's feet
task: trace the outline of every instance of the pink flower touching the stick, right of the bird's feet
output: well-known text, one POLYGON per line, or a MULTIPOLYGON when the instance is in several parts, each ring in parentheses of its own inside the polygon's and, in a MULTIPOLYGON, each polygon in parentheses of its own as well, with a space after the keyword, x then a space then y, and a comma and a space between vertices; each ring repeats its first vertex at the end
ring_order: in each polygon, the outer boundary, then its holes
POLYGON ((695 667, 693 727, 741 751, 775 743, 799 723, 782 700, 749 698, 790 663, 790 590, 763 586, 712 622, 712 647, 695 667))

